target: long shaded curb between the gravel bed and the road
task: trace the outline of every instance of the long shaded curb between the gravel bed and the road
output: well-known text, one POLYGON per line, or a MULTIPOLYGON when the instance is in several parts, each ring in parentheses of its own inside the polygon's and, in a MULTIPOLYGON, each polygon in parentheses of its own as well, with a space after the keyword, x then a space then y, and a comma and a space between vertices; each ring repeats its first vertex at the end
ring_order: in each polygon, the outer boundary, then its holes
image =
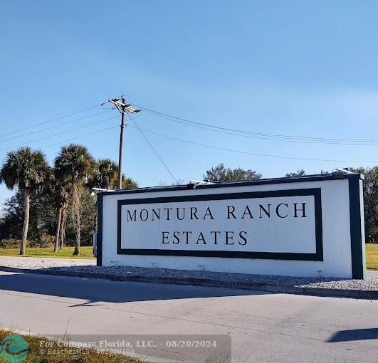
POLYGON ((64 270, 49 269, 30 269, 30 268, 12 268, 1 267, 0 270, 15 273, 37 273, 41 275, 60 275, 79 278, 100 278, 112 281, 131 281, 141 283, 167 283, 174 285, 197 285, 215 288, 233 288, 242 290, 267 291, 269 293, 288 293, 295 295, 313 295, 325 296, 331 298, 354 298, 378 300, 378 291, 374 290, 341 290, 330 288, 300 288, 288 285, 271 285, 266 283, 237 283, 219 281, 206 278, 150 278, 142 275, 115 275, 111 273, 88 273, 88 272, 70 272, 64 270))

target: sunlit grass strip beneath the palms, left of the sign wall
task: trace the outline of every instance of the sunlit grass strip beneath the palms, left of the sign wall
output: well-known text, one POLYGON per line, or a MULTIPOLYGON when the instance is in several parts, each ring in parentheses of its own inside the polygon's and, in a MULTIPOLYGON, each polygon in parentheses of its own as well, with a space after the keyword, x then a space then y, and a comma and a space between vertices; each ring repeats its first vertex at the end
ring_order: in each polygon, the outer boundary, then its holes
MULTIPOLYGON (((26 248, 28 257, 59 257, 59 258, 94 258, 92 246, 80 247, 80 256, 73 256, 73 247, 64 247, 63 250, 54 252, 52 247, 26 248)), ((19 248, 0 248, 0 256, 19 256, 19 248)))

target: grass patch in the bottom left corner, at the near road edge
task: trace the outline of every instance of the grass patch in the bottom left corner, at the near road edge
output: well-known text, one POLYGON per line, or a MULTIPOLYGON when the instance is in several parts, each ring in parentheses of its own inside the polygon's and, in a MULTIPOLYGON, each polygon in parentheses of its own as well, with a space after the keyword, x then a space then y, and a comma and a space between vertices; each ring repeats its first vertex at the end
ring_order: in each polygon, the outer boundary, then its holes
MULTIPOLYGON (((0 342, 4 338, 9 341, 11 338, 7 337, 12 334, 16 333, 0 330, 0 342)), ((9 346, 9 350, 14 353, 20 353, 14 354, 10 359, 4 359, 1 357, 1 354, 0 363, 146 363, 140 359, 126 357, 121 354, 98 352, 95 349, 79 349, 75 347, 64 348, 59 346, 56 341, 43 337, 31 337, 29 335, 21 334, 17 335, 18 337, 13 340, 13 344, 9 346), (23 337, 23 339, 26 340, 26 343, 19 336, 23 337), (55 354, 53 352, 55 352, 55 354)))

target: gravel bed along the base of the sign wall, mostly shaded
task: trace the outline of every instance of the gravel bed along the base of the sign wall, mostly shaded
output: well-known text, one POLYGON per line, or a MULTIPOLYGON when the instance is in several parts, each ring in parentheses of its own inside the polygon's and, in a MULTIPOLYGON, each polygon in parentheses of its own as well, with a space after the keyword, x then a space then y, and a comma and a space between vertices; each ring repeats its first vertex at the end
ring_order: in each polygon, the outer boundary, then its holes
POLYGON ((334 290, 378 291, 377 277, 366 280, 337 278, 298 278, 275 275, 248 275, 243 273, 219 273, 211 271, 171 270, 169 268, 139 268, 131 266, 100 267, 95 260, 72 260, 63 258, 5 258, 0 257, 0 267, 43 269, 51 272, 88 273, 120 277, 142 277, 159 280, 209 280, 230 285, 275 285, 295 288, 317 288, 334 290))

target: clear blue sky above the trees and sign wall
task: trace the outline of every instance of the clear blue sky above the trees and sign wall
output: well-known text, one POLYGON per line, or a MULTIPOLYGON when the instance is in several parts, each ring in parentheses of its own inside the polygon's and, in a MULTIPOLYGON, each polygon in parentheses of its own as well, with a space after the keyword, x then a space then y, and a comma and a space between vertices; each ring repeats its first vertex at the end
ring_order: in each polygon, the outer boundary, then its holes
MULTIPOLYGON (((121 93, 135 104, 221 127, 378 139, 377 14, 377 1, 1 1, 0 159, 15 145, 30 144, 52 162, 61 147, 56 143, 117 125, 118 119, 100 122, 116 112, 73 121, 98 107, 43 125, 54 126, 49 130, 5 134, 121 93)), ((253 140, 146 112, 137 122, 172 137, 258 154, 378 159, 377 145, 253 140)), ((147 137, 184 181, 201 179, 219 162, 263 177, 378 164, 256 157, 147 137)), ((75 142, 96 158, 117 159, 117 128, 75 142)), ((124 163, 140 186, 172 182, 131 127, 124 163)), ((0 202, 10 195, 0 186, 0 202)))

